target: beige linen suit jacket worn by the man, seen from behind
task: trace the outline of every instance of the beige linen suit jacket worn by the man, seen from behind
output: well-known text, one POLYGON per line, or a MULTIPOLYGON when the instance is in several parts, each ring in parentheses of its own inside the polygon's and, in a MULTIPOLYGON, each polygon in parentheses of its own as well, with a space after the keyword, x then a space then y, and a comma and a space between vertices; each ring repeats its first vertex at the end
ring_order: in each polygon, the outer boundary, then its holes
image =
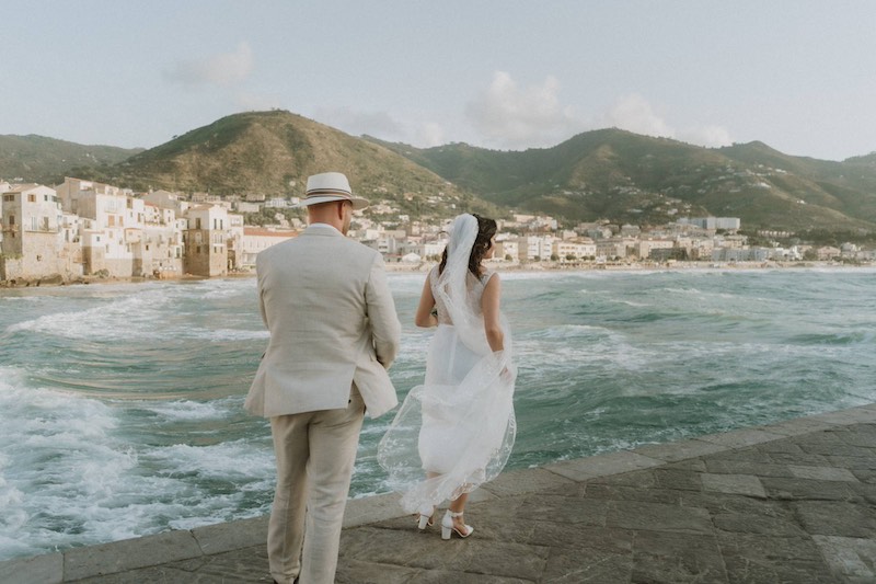
POLYGON ((327 225, 256 257, 270 341, 245 408, 276 415, 346 408, 351 383, 377 417, 399 400, 387 374, 401 324, 379 252, 327 225))

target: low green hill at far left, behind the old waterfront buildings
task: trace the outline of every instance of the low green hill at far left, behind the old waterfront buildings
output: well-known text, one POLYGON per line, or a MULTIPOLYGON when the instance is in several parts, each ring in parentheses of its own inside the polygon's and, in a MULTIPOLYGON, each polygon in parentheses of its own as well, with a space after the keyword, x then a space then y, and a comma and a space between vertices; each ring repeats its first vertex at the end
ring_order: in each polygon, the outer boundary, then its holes
POLYGON ((55 184, 79 165, 115 164, 142 149, 85 146, 44 136, 0 136, 0 178, 55 184))

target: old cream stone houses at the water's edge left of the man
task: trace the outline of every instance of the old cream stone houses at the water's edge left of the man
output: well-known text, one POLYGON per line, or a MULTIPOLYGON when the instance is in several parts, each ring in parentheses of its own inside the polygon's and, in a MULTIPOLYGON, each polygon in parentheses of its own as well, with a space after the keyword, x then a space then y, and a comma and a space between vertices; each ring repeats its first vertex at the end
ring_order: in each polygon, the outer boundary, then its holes
POLYGON ((222 276, 291 231, 244 228, 243 215, 176 193, 79 179, 0 182, 0 280, 222 276), (249 232, 247 232, 249 231, 249 232))

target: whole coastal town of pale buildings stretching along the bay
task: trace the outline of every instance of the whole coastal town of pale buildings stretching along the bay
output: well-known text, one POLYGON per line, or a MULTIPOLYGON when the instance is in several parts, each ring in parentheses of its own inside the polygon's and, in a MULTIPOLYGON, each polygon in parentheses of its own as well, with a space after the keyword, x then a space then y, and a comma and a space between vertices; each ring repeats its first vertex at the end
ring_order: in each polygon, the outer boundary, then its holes
MULTIPOLYGON (((295 197, 218 197, 128 188, 74 178, 55 186, 0 181, 0 285, 99 279, 217 277, 254 270, 262 250, 295 238, 301 218, 284 213, 295 197), (247 217, 268 217, 250 225, 247 217)), ((430 202, 440 204, 440 202, 430 202)), ((448 213, 450 217, 452 213, 448 213)), ((372 201, 349 237, 383 254, 388 267, 418 270, 440 257, 450 219, 414 220, 391 201, 372 201)), ((876 251, 854 243, 782 247, 788 233, 739 233, 734 217, 684 217, 659 227, 609 220, 561 227, 552 217, 498 219, 493 262, 504 267, 593 267, 707 262, 871 263, 876 251)))

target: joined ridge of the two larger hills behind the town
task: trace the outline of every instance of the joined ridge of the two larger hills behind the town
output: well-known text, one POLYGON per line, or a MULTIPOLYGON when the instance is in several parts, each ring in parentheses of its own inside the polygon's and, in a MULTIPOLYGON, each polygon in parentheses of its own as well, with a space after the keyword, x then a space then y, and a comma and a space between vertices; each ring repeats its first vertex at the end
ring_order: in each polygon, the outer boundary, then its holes
MULTIPOLYGON (((93 154, 85 161, 60 178, 136 191, 301 196, 309 174, 334 169, 365 196, 388 199, 414 218, 516 208, 566 225, 661 225, 713 215, 739 217, 750 229, 876 230, 876 152, 826 161, 757 140, 704 148, 602 128, 550 148, 499 151, 457 142, 423 149, 274 110, 224 116, 120 161, 93 154)), ((2 162, 0 176, 9 173, 2 162)))

